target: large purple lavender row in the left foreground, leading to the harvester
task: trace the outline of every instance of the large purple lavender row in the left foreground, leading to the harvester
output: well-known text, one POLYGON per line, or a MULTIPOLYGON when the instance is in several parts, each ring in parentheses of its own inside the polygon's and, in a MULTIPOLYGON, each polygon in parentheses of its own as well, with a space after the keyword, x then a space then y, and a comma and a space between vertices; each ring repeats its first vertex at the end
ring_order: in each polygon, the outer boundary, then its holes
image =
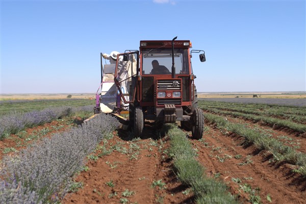
POLYGON ((82 126, 45 138, 5 157, 0 166, 0 203, 54 203, 63 198, 72 176, 99 141, 118 127, 119 122, 100 114, 82 126))

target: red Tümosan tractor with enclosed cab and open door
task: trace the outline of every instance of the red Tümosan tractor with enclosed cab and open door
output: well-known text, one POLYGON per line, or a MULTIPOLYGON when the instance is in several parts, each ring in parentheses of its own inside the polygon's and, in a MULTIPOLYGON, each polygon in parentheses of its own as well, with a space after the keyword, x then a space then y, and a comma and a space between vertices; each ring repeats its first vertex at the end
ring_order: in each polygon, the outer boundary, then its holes
MULTIPOLYGON (((175 39, 142 40, 139 51, 126 50, 117 56, 114 85, 118 97, 113 112, 129 110, 129 124, 136 137, 142 134, 145 120, 156 120, 181 121, 193 138, 202 138, 204 115, 197 108, 191 54, 200 53, 199 60, 205 62, 205 52, 190 50, 189 40, 175 39)), ((100 112, 104 96, 97 99, 95 109, 100 112)))

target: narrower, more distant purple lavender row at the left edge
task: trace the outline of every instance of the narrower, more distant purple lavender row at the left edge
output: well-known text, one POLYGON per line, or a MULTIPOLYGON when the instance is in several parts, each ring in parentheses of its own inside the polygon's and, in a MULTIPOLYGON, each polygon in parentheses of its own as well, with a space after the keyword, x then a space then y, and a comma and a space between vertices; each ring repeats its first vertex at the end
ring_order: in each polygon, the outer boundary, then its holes
POLYGON ((0 118, 0 139, 10 134, 15 134, 27 127, 33 127, 51 122, 52 120, 67 116, 75 112, 90 112, 92 106, 84 107, 55 107, 47 108, 41 111, 32 111, 28 113, 15 113, 12 115, 2 116, 0 118))

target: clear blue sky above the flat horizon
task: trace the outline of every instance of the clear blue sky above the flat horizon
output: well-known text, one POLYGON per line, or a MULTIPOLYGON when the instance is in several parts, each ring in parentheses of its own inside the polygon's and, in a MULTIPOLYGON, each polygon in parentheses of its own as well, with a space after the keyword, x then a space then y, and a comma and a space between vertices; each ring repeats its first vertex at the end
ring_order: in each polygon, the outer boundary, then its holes
MULTIPOLYGON (((100 53, 190 40, 198 92, 306 91, 303 1, 0 1, 1 94, 95 93, 100 53)), ((103 64, 109 63, 103 60, 103 64)))

